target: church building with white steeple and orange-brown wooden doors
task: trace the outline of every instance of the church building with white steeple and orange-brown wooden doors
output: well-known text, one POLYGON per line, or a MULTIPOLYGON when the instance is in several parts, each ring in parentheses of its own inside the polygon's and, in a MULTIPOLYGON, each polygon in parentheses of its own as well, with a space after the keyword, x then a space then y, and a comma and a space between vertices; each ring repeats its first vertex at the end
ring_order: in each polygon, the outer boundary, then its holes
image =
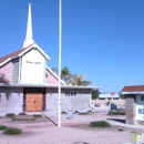
MULTIPOLYGON (((59 76, 47 65, 50 56, 32 38, 31 4, 22 49, 0 58, 0 116, 8 113, 58 113, 59 76)), ((91 92, 99 86, 66 85, 61 80, 61 112, 91 109, 91 92)))

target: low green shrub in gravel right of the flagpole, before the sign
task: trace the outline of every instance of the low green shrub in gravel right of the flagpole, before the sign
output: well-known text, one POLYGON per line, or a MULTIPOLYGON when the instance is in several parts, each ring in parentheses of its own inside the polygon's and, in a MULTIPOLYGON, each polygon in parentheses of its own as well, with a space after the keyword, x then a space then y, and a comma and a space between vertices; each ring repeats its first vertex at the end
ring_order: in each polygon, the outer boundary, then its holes
POLYGON ((111 124, 106 121, 94 121, 90 123, 92 127, 111 127, 111 124))

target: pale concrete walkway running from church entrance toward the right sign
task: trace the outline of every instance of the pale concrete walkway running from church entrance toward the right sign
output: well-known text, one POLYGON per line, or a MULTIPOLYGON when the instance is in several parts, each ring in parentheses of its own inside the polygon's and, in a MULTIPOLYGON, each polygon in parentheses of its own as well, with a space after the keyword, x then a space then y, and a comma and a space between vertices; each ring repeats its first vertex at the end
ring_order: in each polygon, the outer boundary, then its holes
MULTIPOLYGON (((54 123, 58 124, 58 113, 47 113, 44 114, 54 123)), ((105 112, 101 113, 90 113, 90 114, 73 114, 73 119, 68 119, 68 114, 61 114, 61 124, 64 125, 76 125, 76 124, 89 124, 92 121, 107 121, 111 125, 119 125, 131 128, 144 130, 144 125, 130 125, 125 124, 125 115, 107 115, 105 112)))

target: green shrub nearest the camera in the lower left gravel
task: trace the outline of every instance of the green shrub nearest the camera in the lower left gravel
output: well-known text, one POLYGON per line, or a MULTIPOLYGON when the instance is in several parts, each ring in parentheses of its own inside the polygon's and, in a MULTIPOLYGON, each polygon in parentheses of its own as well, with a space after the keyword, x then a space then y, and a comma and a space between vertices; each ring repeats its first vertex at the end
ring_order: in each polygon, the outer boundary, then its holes
POLYGON ((7 127, 4 128, 3 134, 7 134, 7 135, 22 134, 22 131, 20 128, 7 127))

